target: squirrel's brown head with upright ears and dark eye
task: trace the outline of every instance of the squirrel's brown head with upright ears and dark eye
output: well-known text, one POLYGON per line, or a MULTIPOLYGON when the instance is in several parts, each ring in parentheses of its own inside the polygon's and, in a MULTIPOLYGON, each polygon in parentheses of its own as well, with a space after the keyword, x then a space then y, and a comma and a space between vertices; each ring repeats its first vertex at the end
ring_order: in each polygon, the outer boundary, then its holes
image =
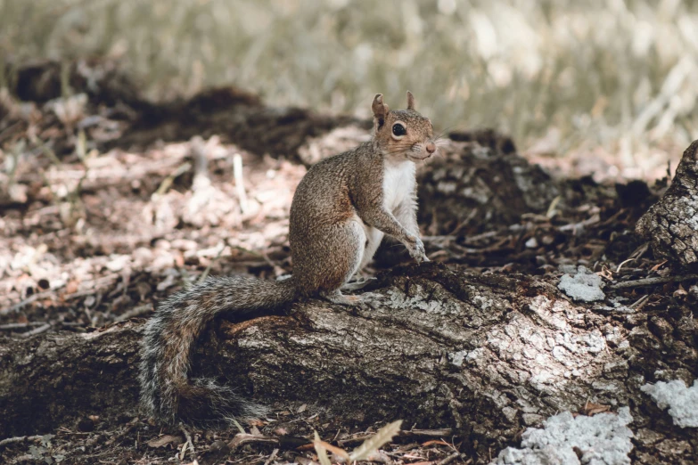
POLYGON ((374 141, 390 159, 428 159, 436 151, 431 120, 415 111, 415 96, 407 91, 407 109, 390 110, 382 94, 376 94, 371 106, 374 111, 374 141))

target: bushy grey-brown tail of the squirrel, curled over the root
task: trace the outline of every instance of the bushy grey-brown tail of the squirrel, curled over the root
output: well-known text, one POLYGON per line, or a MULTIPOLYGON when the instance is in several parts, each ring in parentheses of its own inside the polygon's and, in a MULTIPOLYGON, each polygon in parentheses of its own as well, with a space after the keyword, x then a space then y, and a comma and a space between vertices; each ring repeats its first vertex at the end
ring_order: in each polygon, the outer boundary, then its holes
POLYGON ((208 278, 165 300, 145 326, 141 347, 141 401, 154 417, 183 420, 259 418, 267 408, 213 379, 189 379, 193 347, 219 314, 248 314, 291 304, 300 293, 292 278, 265 281, 243 276, 208 278))

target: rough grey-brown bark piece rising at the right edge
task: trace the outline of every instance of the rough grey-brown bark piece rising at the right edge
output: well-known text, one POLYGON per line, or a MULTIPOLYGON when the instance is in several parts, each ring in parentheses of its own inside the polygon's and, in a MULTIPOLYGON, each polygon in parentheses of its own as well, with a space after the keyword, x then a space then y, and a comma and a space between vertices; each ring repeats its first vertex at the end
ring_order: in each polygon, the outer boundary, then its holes
POLYGON ((698 265, 698 140, 691 143, 669 190, 640 218, 636 232, 654 254, 678 266, 698 265))

